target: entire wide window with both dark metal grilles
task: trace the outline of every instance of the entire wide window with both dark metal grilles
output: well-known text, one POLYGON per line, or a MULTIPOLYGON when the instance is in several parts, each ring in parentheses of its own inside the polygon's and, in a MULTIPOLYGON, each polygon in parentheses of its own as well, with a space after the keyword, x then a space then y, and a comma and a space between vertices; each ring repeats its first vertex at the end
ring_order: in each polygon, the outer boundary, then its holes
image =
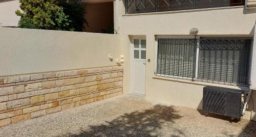
POLYGON ((156 75, 249 84, 250 39, 158 39, 156 75))

